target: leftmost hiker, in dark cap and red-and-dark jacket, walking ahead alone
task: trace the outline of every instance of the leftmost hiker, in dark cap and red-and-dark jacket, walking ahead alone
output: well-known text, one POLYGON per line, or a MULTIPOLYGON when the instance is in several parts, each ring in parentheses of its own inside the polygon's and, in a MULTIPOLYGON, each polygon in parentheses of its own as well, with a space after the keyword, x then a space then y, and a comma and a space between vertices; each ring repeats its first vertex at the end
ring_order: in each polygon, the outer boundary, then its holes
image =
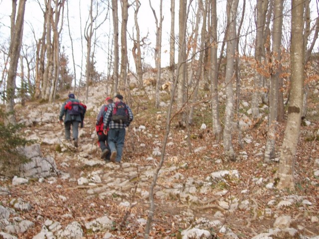
POLYGON ((60 111, 60 123, 63 122, 64 117, 64 130, 65 130, 65 139, 71 140, 71 124, 72 124, 72 136, 74 140, 74 146, 78 146, 78 134, 79 134, 79 124, 83 127, 84 115, 86 112, 86 106, 75 99, 73 93, 68 95, 67 99, 60 111))

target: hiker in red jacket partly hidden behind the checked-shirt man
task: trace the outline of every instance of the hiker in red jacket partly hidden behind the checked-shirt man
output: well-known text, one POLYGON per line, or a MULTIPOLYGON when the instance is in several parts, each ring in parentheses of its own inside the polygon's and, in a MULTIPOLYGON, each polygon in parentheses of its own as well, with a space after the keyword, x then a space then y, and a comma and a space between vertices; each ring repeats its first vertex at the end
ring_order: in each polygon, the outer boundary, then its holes
MULTIPOLYGON (((102 150, 101 159, 104 159, 106 162, 110 161, 111 150, 108 144, 108 135, 103 132, 103 119, 108 110, 108 105, 112 103, 113 100, 111 97, 107 97, 105 99, 105 105, 101 107, 95 122, 95 130, 98 135, 98 145, 102 150)), ((109 128, 107 128, 107 130, 109 130, 109 128)))

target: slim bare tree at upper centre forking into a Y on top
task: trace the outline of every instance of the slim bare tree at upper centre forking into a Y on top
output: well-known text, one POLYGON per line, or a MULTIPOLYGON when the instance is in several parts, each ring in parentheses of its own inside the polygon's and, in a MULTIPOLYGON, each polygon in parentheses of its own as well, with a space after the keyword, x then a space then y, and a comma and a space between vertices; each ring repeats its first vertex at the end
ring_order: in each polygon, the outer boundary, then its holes
POLYGON ((156 12, 154 8, 152 7, 151 0, 150 7, 153 11, 154 18, 155 18, 155 24, 156 24, 156 47, 154 52, 154 58, 155 58, 155 64, 156 64, 156 70, 157 70, 157 76, 156 76, 156 88, 155 88, 155 107, 159 108, 160 106, 160 56, 161 56, 161 30, 162 30, 162 22, 164 19, 164 16, 162 15, 162 2, 163 0, 160 0, 160 22, 158 20, 158 17, 156 15, 156 12))

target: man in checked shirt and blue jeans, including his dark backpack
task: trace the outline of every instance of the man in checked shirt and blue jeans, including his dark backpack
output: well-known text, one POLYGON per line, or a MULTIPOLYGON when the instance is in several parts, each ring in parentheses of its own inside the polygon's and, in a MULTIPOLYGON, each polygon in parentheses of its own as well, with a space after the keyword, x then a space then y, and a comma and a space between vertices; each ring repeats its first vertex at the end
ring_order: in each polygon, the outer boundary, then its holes
POLYGON ((122 95, 116 95, 114 103, 109 105, 105 113, 103 126, 104 133, 108 134, 112 162, 121 163, 126 127, 130 125, 132 120, 132 110, 123 102, 122 95), (107 131, 108 127, 109 131, 107 131))

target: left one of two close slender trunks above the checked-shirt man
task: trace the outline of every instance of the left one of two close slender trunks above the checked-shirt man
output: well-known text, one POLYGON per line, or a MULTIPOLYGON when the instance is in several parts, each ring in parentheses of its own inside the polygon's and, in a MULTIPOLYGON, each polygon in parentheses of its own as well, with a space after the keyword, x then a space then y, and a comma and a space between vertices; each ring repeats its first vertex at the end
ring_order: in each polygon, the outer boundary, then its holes
POLYGON ((114 37, 114 69, 113 69, 113 92, 118 93, 119 86, 119 16, 118 0, 112 0, 113 37, 114 37))

